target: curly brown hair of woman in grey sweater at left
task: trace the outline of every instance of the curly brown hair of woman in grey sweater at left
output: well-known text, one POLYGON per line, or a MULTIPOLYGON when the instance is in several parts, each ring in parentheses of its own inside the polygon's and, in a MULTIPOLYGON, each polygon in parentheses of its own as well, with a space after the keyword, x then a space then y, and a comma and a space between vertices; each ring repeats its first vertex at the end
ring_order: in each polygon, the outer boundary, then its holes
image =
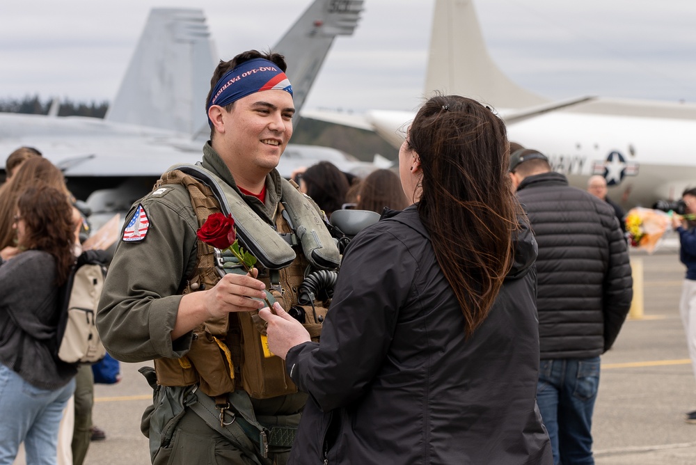
POLYGON ((19 246, 53 255, 56 285, 65 283, 75 262, 72 205, 68 197, 63 191, 40 183, 19 195, 17 210, 26 226, 26 237, 19 246))

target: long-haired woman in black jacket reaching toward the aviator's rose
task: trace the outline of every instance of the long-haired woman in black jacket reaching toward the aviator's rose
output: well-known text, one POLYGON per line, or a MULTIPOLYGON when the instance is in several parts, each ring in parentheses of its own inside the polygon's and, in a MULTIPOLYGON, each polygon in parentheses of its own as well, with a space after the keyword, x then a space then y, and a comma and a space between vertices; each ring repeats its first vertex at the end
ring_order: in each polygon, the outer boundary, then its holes
POLYGON ((508 163, 492 111, 432 97, 399 154, 415 205, 351 241, 322 340, 277 304, 261 311, 271 352, 309 393, 290 462, 551 464, 536 244, 508 163))

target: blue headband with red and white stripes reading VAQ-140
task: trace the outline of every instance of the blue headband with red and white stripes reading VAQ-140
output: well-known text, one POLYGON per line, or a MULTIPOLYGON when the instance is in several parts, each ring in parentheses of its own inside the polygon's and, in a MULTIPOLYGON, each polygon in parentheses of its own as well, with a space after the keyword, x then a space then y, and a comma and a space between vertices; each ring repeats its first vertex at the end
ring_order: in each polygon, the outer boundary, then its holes
MULTIPOLYGON (((276 63, 264 58, 254 58, 237 65, 220 78, 210 95, 208 108, 212 105, 225 107, 242 97, 262 90, 285 90, 292 95, 290 81, 276 63)), ((208 118, 208 124, 213 127, 210 118, 208 118)))

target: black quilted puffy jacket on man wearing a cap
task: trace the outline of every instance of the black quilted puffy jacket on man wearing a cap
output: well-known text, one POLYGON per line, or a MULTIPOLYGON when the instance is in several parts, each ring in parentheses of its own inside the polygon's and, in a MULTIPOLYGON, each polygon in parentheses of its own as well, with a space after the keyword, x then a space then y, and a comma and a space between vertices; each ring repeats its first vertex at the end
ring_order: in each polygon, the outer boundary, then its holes
POLYGON ((539 244, 541 358, 589 358, 616 340, 633 298, 614 210, 560 173, 525 178, 517 196, 539 244))

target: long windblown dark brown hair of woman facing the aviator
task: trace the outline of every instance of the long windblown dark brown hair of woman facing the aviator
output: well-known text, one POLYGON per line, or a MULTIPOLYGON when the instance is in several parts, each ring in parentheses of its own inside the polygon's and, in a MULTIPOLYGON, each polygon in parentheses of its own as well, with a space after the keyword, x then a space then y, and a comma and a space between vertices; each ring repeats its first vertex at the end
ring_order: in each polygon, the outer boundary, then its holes
POLYGON ((436 95, 413 120, 407 148, 418 154, 423 173, 418 214, 470 336, 514 260, 521 207, 507 176, 505 124, 475 100, 436 95))

